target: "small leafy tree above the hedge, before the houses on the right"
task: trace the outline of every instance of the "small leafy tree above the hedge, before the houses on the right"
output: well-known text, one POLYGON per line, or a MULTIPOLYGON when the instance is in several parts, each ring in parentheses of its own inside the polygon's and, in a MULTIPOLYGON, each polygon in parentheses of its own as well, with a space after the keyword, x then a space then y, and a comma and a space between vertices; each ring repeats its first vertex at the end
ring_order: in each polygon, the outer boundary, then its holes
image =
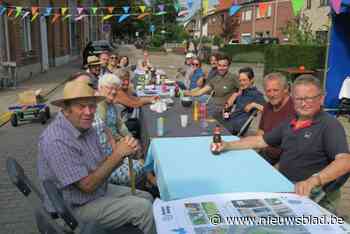
POLYGON ((289 41, 295 45, 319 45, 321 41, 316 39, 313 33, 312 24, 309 17, 305 14, 299 14, 292 20, 289 20, 281 32, 289 38, 289 41))

